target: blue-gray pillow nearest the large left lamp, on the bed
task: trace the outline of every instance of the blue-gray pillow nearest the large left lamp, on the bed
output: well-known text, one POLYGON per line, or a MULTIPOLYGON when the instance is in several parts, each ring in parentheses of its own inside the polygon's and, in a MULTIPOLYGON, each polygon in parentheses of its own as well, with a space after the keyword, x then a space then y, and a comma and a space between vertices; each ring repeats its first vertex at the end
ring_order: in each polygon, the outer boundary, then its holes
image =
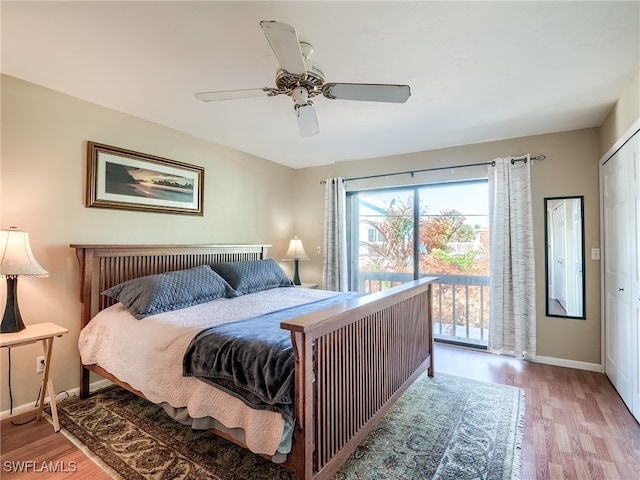
POLYGON ((229 284, 208 265, 134 278, 102 294, 118 300, 138 319, 234 296, 229 284))

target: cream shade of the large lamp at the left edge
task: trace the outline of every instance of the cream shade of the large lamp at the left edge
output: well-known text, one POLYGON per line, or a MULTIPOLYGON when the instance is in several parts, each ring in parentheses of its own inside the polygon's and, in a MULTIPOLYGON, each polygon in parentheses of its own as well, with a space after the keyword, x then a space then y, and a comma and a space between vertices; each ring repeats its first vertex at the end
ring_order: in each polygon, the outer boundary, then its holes
POLYGON ((47 272, 33 256, 29 234, 10 227, 0 230, 0 277, 47 277, 47 272))

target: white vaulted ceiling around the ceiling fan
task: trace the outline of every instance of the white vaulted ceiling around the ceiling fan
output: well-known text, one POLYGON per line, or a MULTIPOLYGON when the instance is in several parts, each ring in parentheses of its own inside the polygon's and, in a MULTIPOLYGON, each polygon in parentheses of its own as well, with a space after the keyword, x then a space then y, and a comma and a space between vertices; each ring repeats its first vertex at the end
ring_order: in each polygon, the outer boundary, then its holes
MULTIPOLYGON (((294 168, 597 127, 639 69, 640 2, 7 2, 2 73, 294 168), (259 26, 294 26, 330 82, 405 104, 315 99, 301 138, 259 26)), ((5 119, 6 120, 6 119, 5 119)))

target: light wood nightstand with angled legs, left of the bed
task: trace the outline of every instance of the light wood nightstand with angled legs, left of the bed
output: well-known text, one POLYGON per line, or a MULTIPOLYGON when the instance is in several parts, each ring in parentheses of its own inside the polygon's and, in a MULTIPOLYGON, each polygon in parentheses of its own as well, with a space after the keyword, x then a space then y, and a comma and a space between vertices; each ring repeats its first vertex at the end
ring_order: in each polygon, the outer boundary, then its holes
MULTIPOLYGON (((51 404, 51 417, 53 418, 53 430, 60 430, 60 422, 58 421, 58 407, 56 406, 56 391, 53 388, 53 380, 49 376, 49 368, 51 367, 51 350, 53 349, 53 339, 61 337, 69 333, 69 330, 55 323, 36 323, 27 325, 24 330, 16 333, 0 333, 0 348, 15 348, 22 345, 29 345, 42 341, 42 349, 44 351, 44 373, 42 374, 42 388, 40 389, 40 399, 38 406, 29 411, 37 411, 36 419, 42 418, 42 407, 44 407, 44 397, 47 389, 49 390, 49 403, 51 404)), ((12 418, 16 415, 22 415, 26 412, 13 414, 6 418, 12 418)))

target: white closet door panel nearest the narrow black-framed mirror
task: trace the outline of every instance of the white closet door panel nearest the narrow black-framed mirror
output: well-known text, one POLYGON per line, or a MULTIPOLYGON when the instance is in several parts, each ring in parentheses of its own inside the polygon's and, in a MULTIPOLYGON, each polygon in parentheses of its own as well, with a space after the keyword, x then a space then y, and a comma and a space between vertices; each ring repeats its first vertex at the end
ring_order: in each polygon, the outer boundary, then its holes
MULTIPOLYGON (((631 410, 635 383, 631 310, 632 216, 630 174, 633 145, 627 142, 603 167, 605 270, 605 373, 631 410)), ((636 336, 637 349, 637 336, 636 336)))

